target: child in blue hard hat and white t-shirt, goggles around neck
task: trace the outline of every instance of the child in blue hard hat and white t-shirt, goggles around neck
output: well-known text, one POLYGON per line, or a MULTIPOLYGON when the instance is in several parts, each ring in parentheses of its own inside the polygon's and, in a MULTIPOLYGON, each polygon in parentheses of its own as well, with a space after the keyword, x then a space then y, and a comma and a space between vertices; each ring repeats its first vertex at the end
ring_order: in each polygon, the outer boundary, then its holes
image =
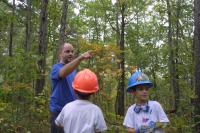
POLYGON ((153 83, 141 69, 129 78, 127 91, 136 97, 136 103, 128 108, 123 125, 129 133, 163 133, 169 123, 162 106, 149 100, 149 89, 153 83))

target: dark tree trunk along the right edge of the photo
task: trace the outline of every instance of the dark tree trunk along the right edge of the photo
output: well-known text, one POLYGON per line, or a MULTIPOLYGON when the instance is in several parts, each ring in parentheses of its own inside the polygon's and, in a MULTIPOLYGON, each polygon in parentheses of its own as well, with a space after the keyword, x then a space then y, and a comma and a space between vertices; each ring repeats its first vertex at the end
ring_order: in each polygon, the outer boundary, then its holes
POLYGON ((200 0, 194 1, 194 57, 195 57, 195 93, 197 96, 195 107, 196 132, 200 132, 200 0))

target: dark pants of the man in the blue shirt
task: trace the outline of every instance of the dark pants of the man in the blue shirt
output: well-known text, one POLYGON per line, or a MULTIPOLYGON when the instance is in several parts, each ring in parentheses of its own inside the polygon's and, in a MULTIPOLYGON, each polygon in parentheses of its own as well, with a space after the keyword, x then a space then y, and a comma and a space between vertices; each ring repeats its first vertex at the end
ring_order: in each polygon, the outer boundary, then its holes
POLYGON ((50 123, 51 123, 51 133, 64 133, 64 130, 62 127, 58 127, 55 124, 55 120, 57 116, 59 115, 60 112, 51 112, 51 118, 50 118, 50 123))

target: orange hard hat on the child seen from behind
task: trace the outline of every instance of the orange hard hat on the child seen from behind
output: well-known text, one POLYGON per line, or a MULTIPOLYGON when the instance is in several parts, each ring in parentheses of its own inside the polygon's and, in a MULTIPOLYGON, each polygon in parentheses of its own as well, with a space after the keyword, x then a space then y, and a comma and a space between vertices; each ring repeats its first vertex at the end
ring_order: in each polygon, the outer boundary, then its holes
POLYGON ((74 90, 82 93, 94 93, 99 90, 97 76, 89 69, 78 72, 72 86, 74 90))

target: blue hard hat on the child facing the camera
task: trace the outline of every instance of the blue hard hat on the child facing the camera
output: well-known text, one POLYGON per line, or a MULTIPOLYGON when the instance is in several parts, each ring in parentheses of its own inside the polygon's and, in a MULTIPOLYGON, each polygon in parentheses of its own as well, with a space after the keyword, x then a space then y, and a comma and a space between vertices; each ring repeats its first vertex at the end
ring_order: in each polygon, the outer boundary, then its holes
POLYGON ((128 80, 128 92, 135 91, 137 85, 145 85, 149 88, 153 87, 153 83, 149 80, 148 76, 137 69, 128 80))

